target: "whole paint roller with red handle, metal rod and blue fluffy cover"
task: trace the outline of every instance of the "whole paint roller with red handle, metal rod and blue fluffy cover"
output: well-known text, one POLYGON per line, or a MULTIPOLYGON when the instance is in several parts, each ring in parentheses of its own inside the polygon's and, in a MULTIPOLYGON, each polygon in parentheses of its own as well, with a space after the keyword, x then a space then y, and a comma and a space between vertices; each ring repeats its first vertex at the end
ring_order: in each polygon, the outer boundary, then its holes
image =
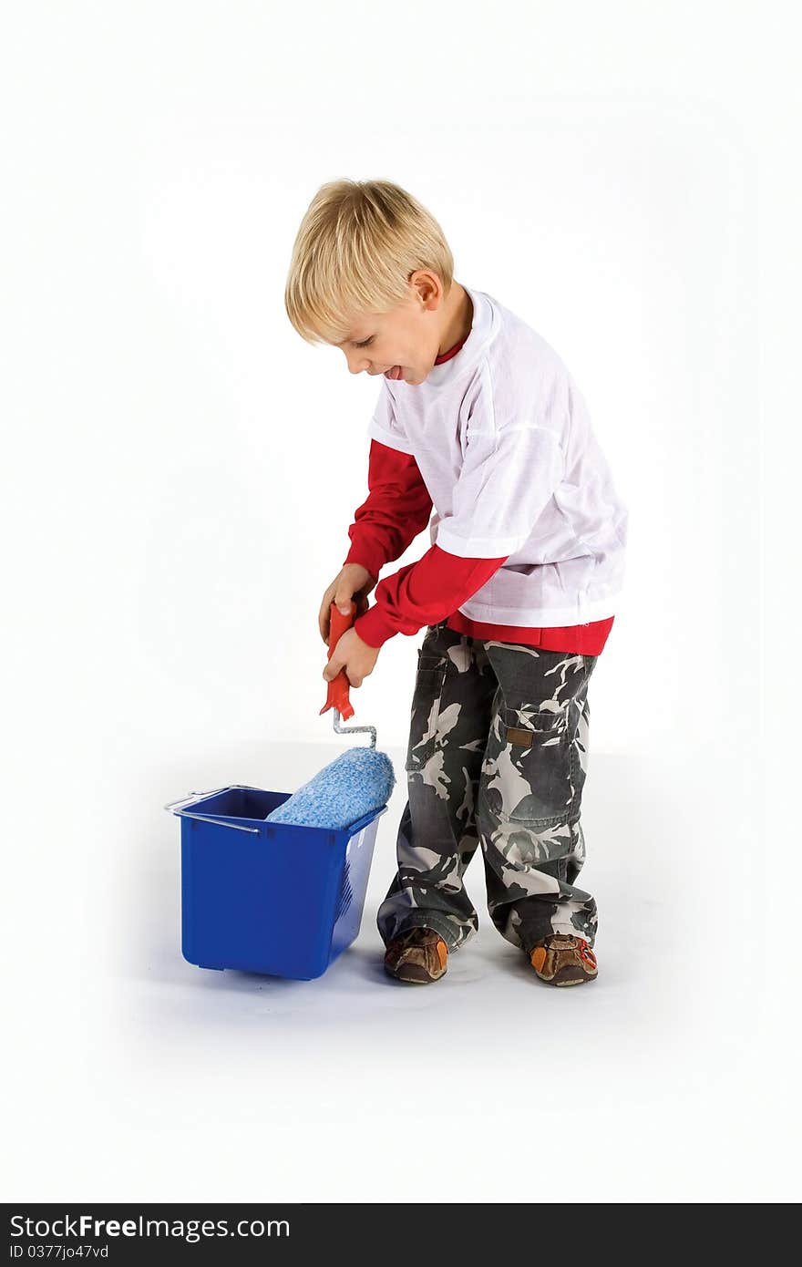
MULTIPOLYGON (((337 642, 353 623, 356 603, 341 612, 336 603, 329 609, 328 659, 337 642)), ((374 813, 386 805, 395 784, 393 763, 386 753, 376 749, 375 726, 342 726, 353 716, 348 697, 351 683, 345 669, 328 683, 326 703, 318 716, 333 708, 333 723, 338 735, 357 731, 370 734, 370 748, 348 748, 329 761, 314 778, 293 792, 286 801, 267 815, 266 822, 291 822, 307 827, 333 827, 342 830, 352 822, 374 813)))

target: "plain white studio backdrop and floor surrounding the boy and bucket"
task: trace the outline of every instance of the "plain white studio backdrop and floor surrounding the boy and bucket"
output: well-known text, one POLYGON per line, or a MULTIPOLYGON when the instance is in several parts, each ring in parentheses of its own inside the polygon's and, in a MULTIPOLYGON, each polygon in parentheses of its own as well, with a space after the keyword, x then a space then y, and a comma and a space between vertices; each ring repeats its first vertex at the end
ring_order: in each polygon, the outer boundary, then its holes
MULTIPOLYGON (((5 11, 6 1200, 797 1199, 796 761, 764 701, 791 716, 798 570, 764 574, 761 526, 796 499, 792 11, 5 11), (317 614, 378 388, 284 312, 338 176, 409 189, 559 351, 630 509, 585 990, 533 979, 478 859, 479 936, 433 988, 384 976, 400 783, 319 981, 180 954, 165 803, 347 744, 317 614)), ((352 693, 402 780, 422 637, 352 693)))

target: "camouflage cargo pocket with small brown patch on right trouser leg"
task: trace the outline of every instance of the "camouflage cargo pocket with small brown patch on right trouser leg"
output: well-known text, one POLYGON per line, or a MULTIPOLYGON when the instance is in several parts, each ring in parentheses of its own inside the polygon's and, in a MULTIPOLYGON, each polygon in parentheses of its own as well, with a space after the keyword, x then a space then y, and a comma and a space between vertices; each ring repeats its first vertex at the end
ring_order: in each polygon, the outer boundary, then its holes
POLYGON ((485 756, 494 763, 489 791, 509 822, 544 829, 566 822, 574 801, 570 704, 536 711, 502 702, 485 756))

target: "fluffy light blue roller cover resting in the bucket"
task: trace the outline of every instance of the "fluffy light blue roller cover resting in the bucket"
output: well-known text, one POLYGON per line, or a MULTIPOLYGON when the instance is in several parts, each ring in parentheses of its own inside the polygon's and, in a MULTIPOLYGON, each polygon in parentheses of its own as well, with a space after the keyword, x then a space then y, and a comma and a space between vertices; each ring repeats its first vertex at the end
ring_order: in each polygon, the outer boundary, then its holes
POLYGON ((386 805, 394 784, 386 753, 350 748, 269 813, 265 822, 342 830, 386 805))

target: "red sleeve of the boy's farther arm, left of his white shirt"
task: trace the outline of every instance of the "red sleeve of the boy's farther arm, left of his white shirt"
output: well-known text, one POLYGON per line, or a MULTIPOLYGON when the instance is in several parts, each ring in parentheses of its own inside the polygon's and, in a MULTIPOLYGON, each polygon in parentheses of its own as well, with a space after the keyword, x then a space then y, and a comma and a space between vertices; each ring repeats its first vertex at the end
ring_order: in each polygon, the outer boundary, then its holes
POLYGON ((378 440, 370 441, 367 487, 367 500, 348 528, 351 549, 345 563, 360 563, 378 576, 428 525, 432 499, 414 456, 378 440))

